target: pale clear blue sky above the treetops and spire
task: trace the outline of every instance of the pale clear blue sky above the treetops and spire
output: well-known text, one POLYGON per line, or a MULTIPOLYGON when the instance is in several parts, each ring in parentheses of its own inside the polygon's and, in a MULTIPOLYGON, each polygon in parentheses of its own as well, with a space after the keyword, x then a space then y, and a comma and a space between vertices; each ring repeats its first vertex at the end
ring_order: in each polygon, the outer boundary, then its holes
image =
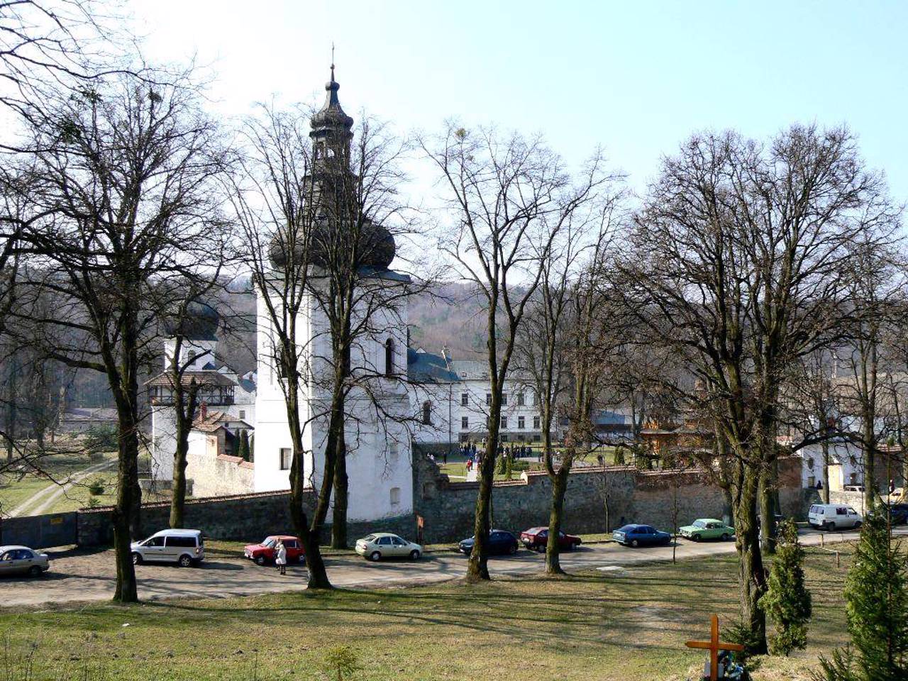
POLYGON ((193 53, 224 114, 321 99, 401 129, 449 117, 596 144, 642 188, 704 128, 847 123, 908 200, 908 2, 202 2, 129 5, 154 59, 193 53))

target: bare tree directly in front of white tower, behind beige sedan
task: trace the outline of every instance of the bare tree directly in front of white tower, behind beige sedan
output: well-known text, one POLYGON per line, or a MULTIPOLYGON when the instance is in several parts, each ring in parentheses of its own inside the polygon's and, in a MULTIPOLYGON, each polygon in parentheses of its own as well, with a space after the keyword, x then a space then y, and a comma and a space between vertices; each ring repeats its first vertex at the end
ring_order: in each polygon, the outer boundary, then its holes
POLYGON ((333 67, 327 87, 325 105, 312 117, 321 222, 311 236, 315 267, 308 286, 328 341, 327 351, 316 353, 312 380, 331 404, 325 442, 334 459, 331 545, 346 548, 347 459, 359 447, 361 420, 375 420, 382 439, 393 440, 393 424, 414 417, 399 409, 400 399, 389 398, 395 391, 402 398, 407 382, 403 311, 431 278, 417 282, 388 269, 397 254, 395 239, 414 228, 399 193, 410 144, 366 114, 354 131, 333 67))

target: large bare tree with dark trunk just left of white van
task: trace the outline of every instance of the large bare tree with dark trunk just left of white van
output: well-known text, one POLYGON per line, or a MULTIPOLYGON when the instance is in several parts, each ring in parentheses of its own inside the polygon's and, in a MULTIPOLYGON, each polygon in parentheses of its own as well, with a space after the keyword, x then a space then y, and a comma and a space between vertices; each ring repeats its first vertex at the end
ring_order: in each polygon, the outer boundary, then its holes
POLYGON ((188 78, 149 87, 123 75, 97 85, 64 91, 34 114, 29 200, 44 219, 24 233, 23 257, 30 287, 50 291, 57 309, 29 318, 26 308, 17 319, 43 330, 46 357, 107 378, 119 420, 114 599, 134 601, 139 379, 143 356, 156 355, 146 300, 208 262, 221 163, 188 78))

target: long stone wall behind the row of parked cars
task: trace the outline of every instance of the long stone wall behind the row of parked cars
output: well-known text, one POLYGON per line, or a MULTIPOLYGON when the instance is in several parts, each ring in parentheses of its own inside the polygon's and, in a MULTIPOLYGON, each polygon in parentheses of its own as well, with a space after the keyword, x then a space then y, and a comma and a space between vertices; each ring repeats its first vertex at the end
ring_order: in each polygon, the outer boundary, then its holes
MULTIPOLYGON (((473 534, 473 514, 479 484, 450 482, 438 466, 417 454, 413 470, 415 514, 351 523, 350 538, 372 531, 396 532, 416 538, 415 515, 425 520, 425 540, 451 542, 473 534)), ((235 465, 235 464, 231 464, 235 465)), ((779 496, 785 516, 800 518, 804 495, 800 489, 800 459, 780 460, 779 496), (792 486, 794 483, 794 486, 792 486)), ((669 529, 672 499, 677 494, 678 519, 723 518, 727 515, 725 495, 709 484, 702 471, 640 471, 632 467, 577 469, 568 479, 564 528, 568 532, 604 532, 605 498, 608 496, 610 527, 622 522, 643 522, 669 529)), ((186 502, 189 528, 202 529, 206 537, 260 540, 270 533, 291 531, 287 492, 263 492, 231 497, 197 498, 186 502)), ((314 492, 306 494, 311 511, 314 492)), ((521 479, 498 482, 492 491, 494 526, 519 531, 548 524, 551 484, 545 473, 523 473, 521 479)), ((112 540, 111 508, 79 511, 78 538, 84 546, 108 544, 112 540)), ((170 505, 144 504, 143 534, 166 528, 170 505)), ((326 537, 327 538, 327 532, 326 537)))

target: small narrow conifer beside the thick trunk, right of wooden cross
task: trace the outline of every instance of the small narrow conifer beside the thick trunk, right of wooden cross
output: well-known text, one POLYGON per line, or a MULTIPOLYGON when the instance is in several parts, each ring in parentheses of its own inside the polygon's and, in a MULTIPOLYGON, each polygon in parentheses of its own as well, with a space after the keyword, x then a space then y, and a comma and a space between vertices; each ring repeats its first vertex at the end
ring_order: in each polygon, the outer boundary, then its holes
POLYGON ((804 585, 804 548, 791 520, 779 525, 775 560, 769 572, 769 586, 760 605, 775 625, 769 642, 773 655, 788 656, 807 645, 807 623, 811 616, 810 592, 804 585))

